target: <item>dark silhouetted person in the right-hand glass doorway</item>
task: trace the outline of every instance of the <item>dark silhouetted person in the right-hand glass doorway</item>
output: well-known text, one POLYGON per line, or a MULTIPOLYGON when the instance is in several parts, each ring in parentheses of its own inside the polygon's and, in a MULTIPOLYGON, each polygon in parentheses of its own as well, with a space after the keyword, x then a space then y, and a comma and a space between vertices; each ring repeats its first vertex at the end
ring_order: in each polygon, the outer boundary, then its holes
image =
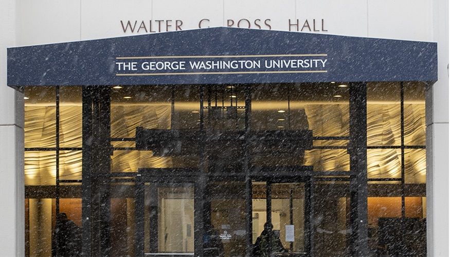
POLYGON ((258 236, 253 247, 253 256, 271 256, 274 252, 287 252, 287 250, 281 244, 280 237, 276 236, 274 233, 274 225, 266 222, 264 224, 264 230, 261 235, 258 236), (269 252, 269 242, 270 250, 269 252))

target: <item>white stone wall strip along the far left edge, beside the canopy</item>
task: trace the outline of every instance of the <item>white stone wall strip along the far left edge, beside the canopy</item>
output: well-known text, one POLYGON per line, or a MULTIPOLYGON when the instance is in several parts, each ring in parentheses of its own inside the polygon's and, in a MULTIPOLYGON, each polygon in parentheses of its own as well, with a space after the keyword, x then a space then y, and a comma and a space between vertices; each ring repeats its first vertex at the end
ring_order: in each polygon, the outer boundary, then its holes
POLYGON ((0 2, 0 255, 25 254, 23 94, 6 86, 6 47, 16 45, 16 3, 0 2))

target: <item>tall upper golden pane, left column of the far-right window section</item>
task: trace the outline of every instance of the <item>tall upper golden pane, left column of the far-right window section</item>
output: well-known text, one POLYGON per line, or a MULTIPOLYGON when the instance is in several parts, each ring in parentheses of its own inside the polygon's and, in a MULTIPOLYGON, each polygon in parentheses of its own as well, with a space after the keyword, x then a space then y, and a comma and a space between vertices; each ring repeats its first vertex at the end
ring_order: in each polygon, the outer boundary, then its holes
POLYGON ((367 83, 367 145, 401 144, 400 83, 367 83))

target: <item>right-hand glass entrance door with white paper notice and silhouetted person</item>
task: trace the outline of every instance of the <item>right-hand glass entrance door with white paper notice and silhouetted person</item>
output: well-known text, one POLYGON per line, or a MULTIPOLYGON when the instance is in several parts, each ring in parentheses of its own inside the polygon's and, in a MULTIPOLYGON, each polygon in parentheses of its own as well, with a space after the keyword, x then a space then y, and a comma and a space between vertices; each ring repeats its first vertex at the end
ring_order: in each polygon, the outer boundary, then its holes
POLYGON ((310 249, 308 183, 253 181, 254 256, 306 256, 310 249))

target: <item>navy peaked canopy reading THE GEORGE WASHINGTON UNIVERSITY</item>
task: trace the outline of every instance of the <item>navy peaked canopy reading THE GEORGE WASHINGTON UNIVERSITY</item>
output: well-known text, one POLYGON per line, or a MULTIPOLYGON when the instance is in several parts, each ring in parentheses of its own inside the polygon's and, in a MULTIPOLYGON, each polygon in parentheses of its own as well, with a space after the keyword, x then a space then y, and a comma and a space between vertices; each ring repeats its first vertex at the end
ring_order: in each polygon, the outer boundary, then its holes
POLYGON ((437 80, 437 44, 206 28, 8 48, 8 86, 437 80))

